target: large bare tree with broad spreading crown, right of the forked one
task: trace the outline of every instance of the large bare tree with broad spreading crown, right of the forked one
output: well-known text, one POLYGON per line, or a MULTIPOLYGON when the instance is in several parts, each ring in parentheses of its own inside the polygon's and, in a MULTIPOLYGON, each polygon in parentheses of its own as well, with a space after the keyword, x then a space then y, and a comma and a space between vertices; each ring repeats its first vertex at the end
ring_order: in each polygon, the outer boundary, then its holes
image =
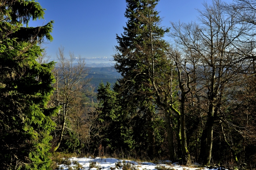
MULTIPOLYGON (((204 101, 200 105, 202 108, 205 104, 207 106, 204 109, 207 120, 201 138, 200 155, 205 164, 210 164, 213 127, 221 117, 224 98, 229 96, 227 86, 246 72, 247 61, 242 56, 246 51, 252 51, 252 47, 241 42, 248 38, 250 27, 246 23, 238 23, 234 16, 226 13, 220 0, 203 5, 204 10, 199 10, 200 23, 173 24, 172 36, 183 49, 196 54, 198 60, 198 87, 202 87, 201 102, 204 101)), ((186 73, 186 68, 183 68, 186 73)))

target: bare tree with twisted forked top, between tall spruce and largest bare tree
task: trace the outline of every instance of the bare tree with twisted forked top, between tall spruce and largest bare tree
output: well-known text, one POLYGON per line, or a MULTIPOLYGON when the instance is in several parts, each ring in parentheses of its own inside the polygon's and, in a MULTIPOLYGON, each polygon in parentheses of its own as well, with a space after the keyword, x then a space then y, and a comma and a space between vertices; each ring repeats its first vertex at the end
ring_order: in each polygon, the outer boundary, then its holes
MULTIPOLYGON (((172 23, 173 27, 177 28, 178 26, 172 23)), ((170 34, 172 36, 172 34, 170 34)), ((173 109, 176 112, 178 117, 178 129, 177 134, 179 135, 181 141, 181 151, 182 151, 182 161, 189 162, 191 160, 188 148, 187 148, 187 135, 185 127, 185 116, 186 116, 186 100, 188 99, 188 94, 191 92, 192 86, 195 87, 197 62, 198 58, 195 57, 195 54, 188 49, 178 49, 177 47, 170 47, 169 49, 170 59, 174 61, 177 71, 177 82, 178 82, 178 91, 179 91, 179 102, 180 102, 180 111, 173 109)))

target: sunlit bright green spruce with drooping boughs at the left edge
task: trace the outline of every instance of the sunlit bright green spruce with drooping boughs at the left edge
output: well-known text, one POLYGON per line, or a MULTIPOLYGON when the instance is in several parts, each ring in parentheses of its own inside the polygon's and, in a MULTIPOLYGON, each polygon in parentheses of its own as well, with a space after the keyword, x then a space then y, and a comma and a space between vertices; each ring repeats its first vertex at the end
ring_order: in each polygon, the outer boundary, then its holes
POLYGON ((34 0, 0 1, 0 166, 3 169, 45 170, 54 123, 47 108, 53 92, 54 62, 39 64, 44 37, 52 40, 53 21, 29 27, 44 10, 34 0), (24 27, 24 25, 27 25, 24 27))

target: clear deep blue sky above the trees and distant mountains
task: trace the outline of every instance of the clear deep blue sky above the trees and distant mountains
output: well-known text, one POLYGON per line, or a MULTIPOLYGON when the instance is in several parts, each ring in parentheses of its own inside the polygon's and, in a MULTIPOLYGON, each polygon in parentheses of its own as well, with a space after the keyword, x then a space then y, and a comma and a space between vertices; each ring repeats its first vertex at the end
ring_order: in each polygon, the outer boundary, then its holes
MULTIPOLYGON (((126 18, 125 0, 38 0, 45 11, 45 19, 30 22, 29 26, 41 26, 54 20, 53 42, 47 44, 47 53, 56 60, 60 45, 65 53, 74 52, 83 58, 108 57, 114 54, 116 34, 123 32, 126 18)), ((207 1, 211 3, 211 0, 207 1)), ((191 22, 203 9, 203 0, 160 0, 157 5, 162 26, 170 27, 170 21, 191 22)), ((168 38, 166 38, 168 39, 168 38)))

